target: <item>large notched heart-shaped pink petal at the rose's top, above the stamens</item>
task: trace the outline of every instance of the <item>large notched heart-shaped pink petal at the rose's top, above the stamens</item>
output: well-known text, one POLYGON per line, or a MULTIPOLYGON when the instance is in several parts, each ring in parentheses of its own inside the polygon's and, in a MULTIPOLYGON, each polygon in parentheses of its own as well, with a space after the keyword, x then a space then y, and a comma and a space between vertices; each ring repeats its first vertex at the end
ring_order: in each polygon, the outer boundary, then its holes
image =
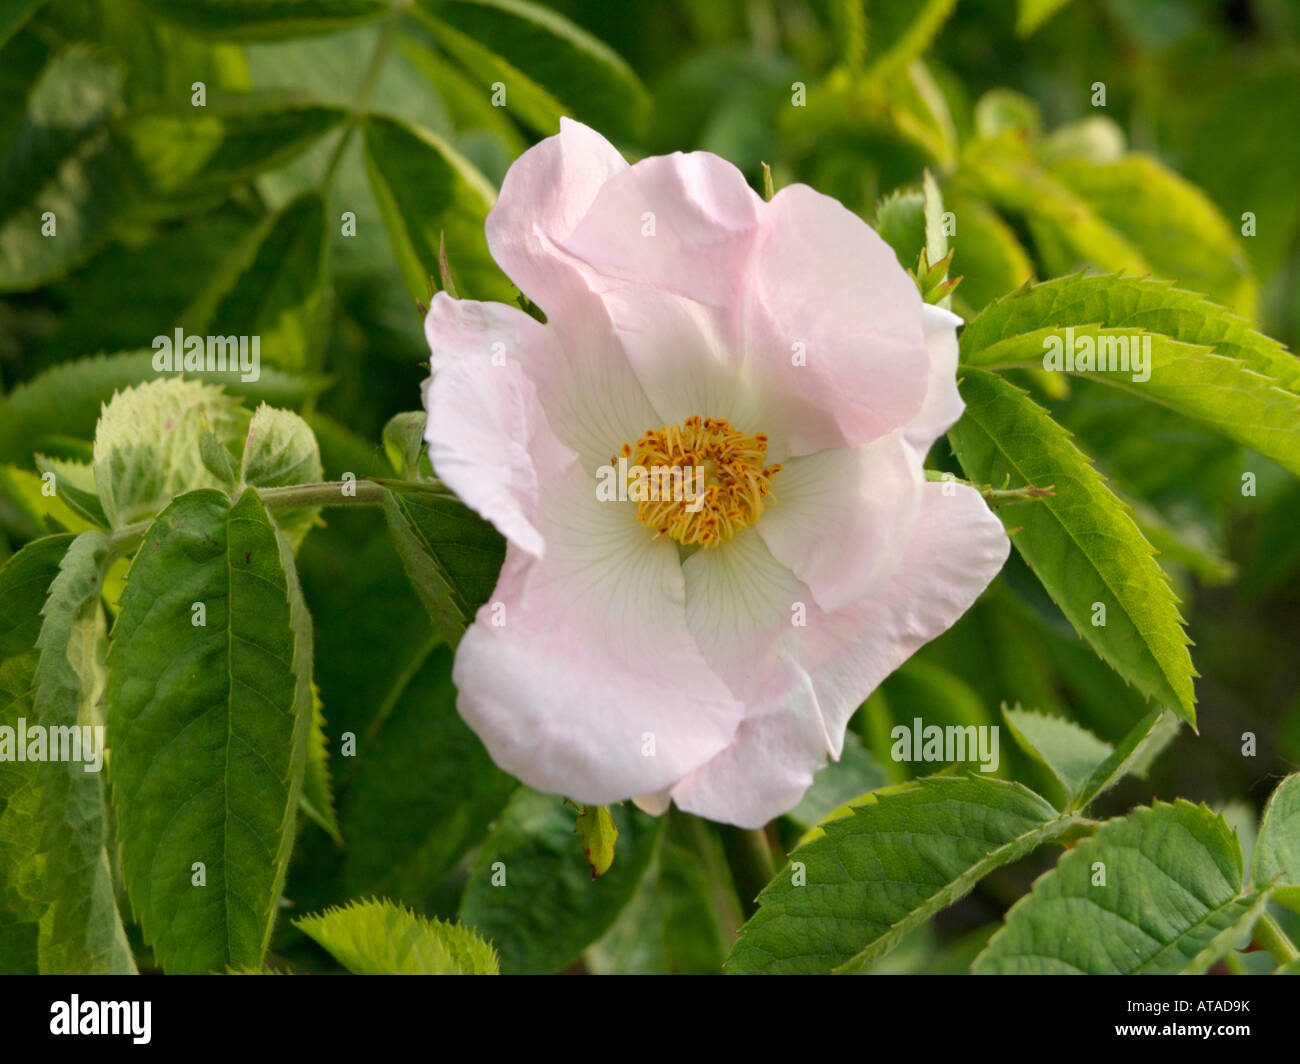
POLYGON ((564 251, 663 423, 727 418, 781 460, 870 442, 922 410, 915 285, 870 226, 806 186, 763 203, 716 156, 642 160, 601 189, 564 251))

